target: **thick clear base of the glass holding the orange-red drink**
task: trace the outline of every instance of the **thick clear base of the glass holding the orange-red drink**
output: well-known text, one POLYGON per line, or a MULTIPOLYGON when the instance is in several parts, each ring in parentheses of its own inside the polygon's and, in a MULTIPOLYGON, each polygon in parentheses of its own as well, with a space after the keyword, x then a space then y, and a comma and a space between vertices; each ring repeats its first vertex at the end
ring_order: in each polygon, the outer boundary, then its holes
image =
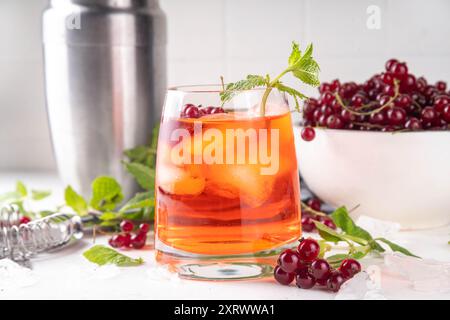
POLYGON ((242 255, 197 255, 175 250, 159 242, 156 260, 181 278, 191 280, 237 281, 271 277, 283 245, 271 250, 242 255), (163 250, 161 250, 163 249, 163 250))

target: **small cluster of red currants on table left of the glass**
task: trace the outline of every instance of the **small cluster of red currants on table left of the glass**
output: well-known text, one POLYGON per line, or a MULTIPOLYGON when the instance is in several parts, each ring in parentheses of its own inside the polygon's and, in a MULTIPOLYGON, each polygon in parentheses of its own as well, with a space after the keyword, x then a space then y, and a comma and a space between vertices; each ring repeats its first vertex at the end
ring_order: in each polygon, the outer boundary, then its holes
POLYGON ((148 223, 141 223, 135 234, 131 234, 134 229, 133 222, 123 220, 120 223, 122 233, 115 234, 109 239, 108 243, 113 248, 134 248, 141 249, 147 242, 147 233, 150 230, 148 223))

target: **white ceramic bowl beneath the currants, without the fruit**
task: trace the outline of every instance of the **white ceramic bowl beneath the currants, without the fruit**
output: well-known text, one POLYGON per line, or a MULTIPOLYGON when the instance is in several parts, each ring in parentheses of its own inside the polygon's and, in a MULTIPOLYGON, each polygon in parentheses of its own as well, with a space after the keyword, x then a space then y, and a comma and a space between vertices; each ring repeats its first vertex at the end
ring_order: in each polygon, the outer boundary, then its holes
POLYGON ((403 229, 450 223, 450 132, 316 129, 311 142, 296 127, 300 172, 332 206, 360 205, 352 215, 398 222, 403 229))

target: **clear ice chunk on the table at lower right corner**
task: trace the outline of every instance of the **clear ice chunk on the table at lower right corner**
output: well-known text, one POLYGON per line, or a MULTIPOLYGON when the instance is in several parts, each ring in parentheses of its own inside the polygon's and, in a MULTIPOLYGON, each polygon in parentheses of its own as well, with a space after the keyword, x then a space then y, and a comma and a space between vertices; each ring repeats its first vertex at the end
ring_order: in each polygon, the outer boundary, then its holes
POLYGON ((386 254, 384 263, 391 272, 404 276, 412 288, 425 292, 450 292, 450 262, 386 254))

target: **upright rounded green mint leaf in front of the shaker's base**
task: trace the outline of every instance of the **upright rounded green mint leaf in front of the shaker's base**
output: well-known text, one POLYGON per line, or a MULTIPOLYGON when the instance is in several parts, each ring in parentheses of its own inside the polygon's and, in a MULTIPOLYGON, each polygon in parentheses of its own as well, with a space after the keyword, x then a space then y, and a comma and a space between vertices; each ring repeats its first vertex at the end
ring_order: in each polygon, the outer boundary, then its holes
POLYGON ((92 182, 91 206, 101 211, 111 211, 123 200, 122 187, 112 177, 98 177, 92 182))

